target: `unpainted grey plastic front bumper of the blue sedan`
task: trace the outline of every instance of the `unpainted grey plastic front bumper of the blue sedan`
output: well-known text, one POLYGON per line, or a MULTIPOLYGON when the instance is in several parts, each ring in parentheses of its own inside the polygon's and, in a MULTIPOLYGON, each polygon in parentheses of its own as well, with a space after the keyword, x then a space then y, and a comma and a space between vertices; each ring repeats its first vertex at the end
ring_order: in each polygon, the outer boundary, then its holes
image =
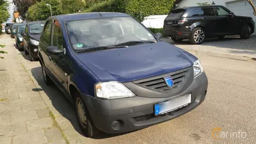
POLYGON ((207 76, 203 73, 194 79, 193 83, 184 92, 173 97, 148 98, 136 96, 124 99, 102 100, 82 93, 82 98, 92 117, 93 123, 98 129, 107 133, 122 133, 143 129, 188 113, 204 101, 207 86, 207 76), (189 93, 191 93, 192 102, 188 106, 165 115, 154 116, 154 104, 189 93), (119 122, 119 127, 116 127, 116 122, 119 122))

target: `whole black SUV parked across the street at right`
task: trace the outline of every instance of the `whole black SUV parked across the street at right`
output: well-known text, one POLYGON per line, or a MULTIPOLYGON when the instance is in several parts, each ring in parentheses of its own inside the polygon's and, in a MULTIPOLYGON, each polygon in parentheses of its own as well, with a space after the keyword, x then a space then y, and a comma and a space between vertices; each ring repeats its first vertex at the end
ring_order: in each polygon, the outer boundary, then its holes
POLYGON ((173 41, 189 39, 202 44, 205 38, 240 35, 247 39, 254 33, 252 17, 236 16, 224 6, 195 6, 171 10, 164 20, 164 35, 173 41))

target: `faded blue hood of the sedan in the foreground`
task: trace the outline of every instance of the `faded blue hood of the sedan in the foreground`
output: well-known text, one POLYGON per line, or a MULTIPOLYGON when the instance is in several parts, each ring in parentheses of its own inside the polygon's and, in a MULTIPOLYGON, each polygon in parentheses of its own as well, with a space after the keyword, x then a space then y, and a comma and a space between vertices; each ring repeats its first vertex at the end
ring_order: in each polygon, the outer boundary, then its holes
POLYGON ((100 81, 134 81, 190 67, 194 62, 188 54, 165 42, 76 53, 76 56, 100 81))

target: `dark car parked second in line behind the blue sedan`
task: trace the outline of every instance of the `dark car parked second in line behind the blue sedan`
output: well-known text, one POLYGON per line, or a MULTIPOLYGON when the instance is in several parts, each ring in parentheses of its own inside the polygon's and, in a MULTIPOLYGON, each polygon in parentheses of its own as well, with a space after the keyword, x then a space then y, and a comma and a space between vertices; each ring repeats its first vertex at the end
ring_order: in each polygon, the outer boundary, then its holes
POLYGON ((24 33, 25 27, 26 27, 26 24, 20 24, 19 26, 17 26, 17 29, 15 31, 14 38, 15 38, 17 49, 19 51, 24 51, 23 37, 21 34, 24 33))

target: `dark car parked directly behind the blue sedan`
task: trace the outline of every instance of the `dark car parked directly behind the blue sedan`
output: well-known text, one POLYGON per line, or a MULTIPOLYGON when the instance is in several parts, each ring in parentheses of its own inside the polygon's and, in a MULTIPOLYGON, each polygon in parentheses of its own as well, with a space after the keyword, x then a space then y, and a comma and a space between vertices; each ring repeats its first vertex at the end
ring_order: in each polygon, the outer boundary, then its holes
POLYGON ((28 22, 25 32, 22 33, 25 54, 30 61, 38 60, 38 44, 45 21, 28 22))

